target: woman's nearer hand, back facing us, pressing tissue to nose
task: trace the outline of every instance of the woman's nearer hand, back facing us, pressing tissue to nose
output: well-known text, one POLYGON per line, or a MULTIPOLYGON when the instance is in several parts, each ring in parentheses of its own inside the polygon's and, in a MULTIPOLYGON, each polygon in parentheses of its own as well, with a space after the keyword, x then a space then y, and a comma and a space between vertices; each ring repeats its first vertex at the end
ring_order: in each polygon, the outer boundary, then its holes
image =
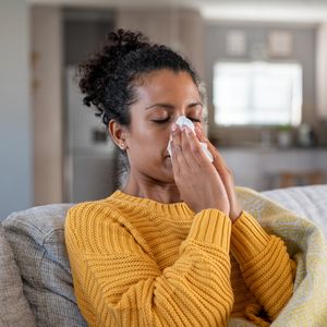
POLYGON ((171 152, 174 182, 187 206, 195 213, 216 208, 229 215, 225 185, 191 129, 172 125, 171 152))

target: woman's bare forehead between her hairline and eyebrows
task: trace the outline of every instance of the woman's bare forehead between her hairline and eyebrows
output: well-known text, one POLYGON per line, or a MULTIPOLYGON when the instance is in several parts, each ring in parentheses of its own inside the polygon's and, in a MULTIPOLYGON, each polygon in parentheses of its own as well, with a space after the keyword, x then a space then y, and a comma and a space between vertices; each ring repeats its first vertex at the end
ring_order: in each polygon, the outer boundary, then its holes
POLYGON ((187 72, 159 70, 142 75, 136 83, 141 101, 154 100, 199 100, 196 84, 187 72))

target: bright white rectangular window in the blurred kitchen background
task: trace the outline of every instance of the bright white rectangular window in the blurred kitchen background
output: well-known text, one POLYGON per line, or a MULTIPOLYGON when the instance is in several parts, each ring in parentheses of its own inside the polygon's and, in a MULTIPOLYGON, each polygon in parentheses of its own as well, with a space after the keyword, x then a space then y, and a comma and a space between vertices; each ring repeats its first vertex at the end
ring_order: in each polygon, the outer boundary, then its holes
POLYGON ((214 105, 217 124, 298 125, 302 68, 299 63, 218 62, 214 105))

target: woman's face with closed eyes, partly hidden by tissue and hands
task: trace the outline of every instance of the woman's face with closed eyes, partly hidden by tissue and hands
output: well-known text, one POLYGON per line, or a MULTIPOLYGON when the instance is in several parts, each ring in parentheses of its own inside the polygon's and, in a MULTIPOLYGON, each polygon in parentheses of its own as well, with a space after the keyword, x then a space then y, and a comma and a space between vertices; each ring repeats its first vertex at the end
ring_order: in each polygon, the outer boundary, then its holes
POLYGON ((203 104, 190 74, 170 70, 141 77, 137 101, 130 107, 131 124, 126 145, 134 177, 173 183, 172 164, 167 145, 171 124, 180 116, 203 121, 203 104), (136 175, 135 175, 136 174, 136 175))

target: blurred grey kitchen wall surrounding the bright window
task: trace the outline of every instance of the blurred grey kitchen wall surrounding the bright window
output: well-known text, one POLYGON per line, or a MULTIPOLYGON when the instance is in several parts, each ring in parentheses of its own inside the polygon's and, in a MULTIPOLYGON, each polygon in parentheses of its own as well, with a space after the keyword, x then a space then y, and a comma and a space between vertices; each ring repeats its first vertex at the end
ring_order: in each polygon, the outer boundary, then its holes
MULTIPOLYGON (((316 27, 313 25, 289 25, 274 23, 228 23, 208 22, 205 26, 205 82, 208 93, 208 105, 210 108, 209 119, 214 121, 213 110, 213 68, 219 60, 251 60, 252 47, 255 44, 265 44, 270 31, 289 31, 293 36, 293 56, 286 60, 296 60, 303 65, 303 112, 302 119, 315 126, 320 132, 320 140, 326 135, 320 131, 322 125, 316 112, 315 93, 315 48, 316 48, 316 27), (247 48, 242 58, 231 58, 226 53, 226 36, 231 29, 242 29, 247 37, 247 48)), ((218 138, 223 144, 234 144, 238 140, 258 141, 262 130, 251 128, 219 128, 215 129, 211 124, 210 135, 218 138)), ((272 131, 274 132, 274 131, 272 131)), ((326 133, 326 132, 325 132, 326 133)))

